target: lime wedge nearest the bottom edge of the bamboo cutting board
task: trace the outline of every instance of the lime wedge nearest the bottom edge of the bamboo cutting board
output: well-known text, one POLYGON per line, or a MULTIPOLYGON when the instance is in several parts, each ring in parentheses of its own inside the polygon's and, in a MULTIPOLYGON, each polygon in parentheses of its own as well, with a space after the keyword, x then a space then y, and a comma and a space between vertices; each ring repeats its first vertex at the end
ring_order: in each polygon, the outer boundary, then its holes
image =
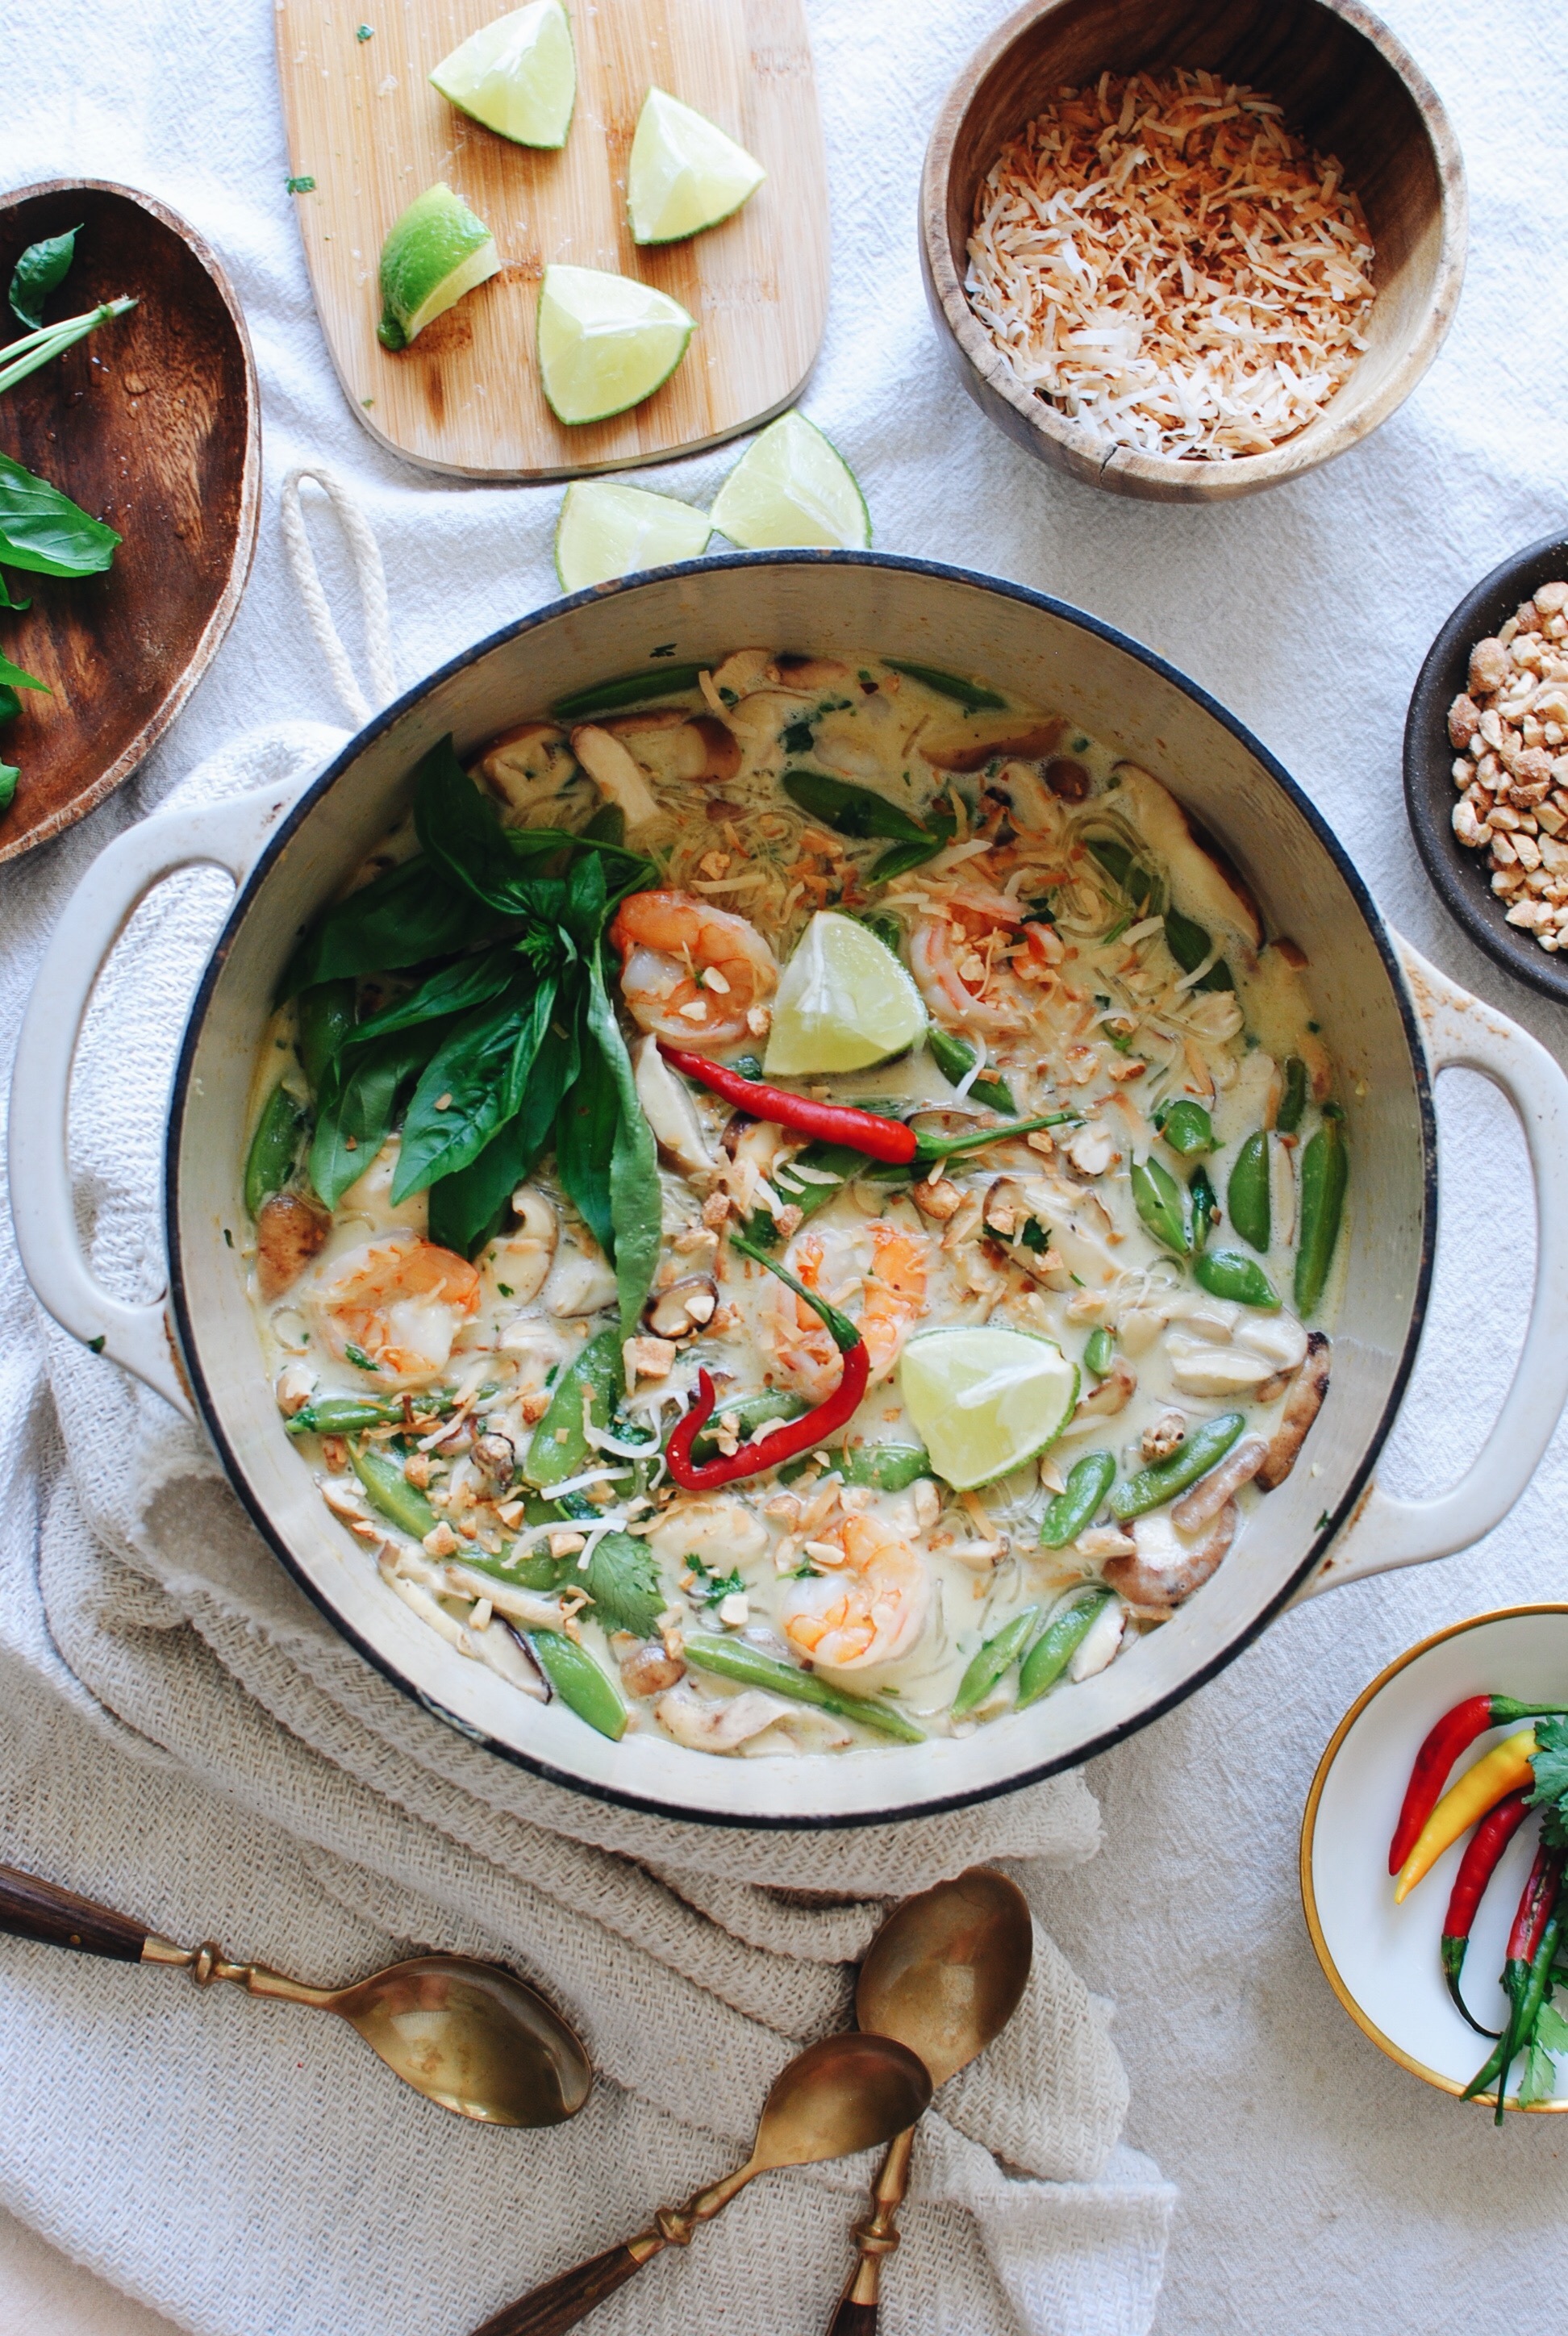
POLYGON ((544 269, 540 378, 563 423, 603 423, 668 381, 694 318, 668 292, 601 269, 544 269))

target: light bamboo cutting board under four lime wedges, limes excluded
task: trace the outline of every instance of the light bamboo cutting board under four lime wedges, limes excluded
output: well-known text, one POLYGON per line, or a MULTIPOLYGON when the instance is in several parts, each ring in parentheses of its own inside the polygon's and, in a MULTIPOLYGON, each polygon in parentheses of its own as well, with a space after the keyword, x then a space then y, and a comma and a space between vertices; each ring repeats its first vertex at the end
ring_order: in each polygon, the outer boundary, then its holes
POLYGON ((568 0, 577 112, 561 152, 514 145, 430 86, 507 0, 276 0, 290 171, 315 308, 372 437, 470 479, 570 479, 752 430, 811 371, 827 313, 827 173, 802 0, 568 0), (360 37, 362 28, 369 37, 360 37), (640 250, 626 157, 650 82, 766 168, 734 220, 640 250), (390 355, 376 269, 393 220, 446 180, 495 236, 500 276, 390 355), (547 262, 673 294, 696 332, 650 399, 568 427, 544 404, 533 325, 547 262))

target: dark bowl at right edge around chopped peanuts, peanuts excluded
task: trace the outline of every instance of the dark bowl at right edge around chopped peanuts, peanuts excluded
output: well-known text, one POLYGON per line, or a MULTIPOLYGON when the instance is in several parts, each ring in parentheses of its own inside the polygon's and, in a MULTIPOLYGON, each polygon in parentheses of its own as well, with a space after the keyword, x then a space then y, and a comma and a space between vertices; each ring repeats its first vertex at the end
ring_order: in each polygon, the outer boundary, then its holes
POLYGON ((1568 530, 1514 551, 1465 593, 1425 652, 1404 717, 1404 811, 1416 850, 1449 916, 1519 981, 1568 1004, 1568 955, 1547 955, 1533 932, 1507 923, 1507 902, 1491 890, 1486 853, 1453 834, 1453 748, 1449 705, 1465 687, 1470 649, 1505 624, 1540 584, 1568 577, 1568 530))

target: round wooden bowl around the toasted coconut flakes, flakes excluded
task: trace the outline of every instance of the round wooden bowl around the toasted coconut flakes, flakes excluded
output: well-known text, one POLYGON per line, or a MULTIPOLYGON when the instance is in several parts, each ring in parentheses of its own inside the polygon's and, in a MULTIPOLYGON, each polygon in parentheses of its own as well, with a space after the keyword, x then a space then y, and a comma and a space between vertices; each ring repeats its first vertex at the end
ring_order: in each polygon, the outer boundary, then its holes
POLYGON ((1295 479, 1367 437, 1414 390, 1465 273, 1465 171, 1437 91, 1358 0, 1031 0, 953 84, 921 182, 925 297, 970 397, 1042 463, 1117 495, 1220 502, 1295 479), (1337 154, 1376 245, 1369 348, 1316 420, 1271 453, 1210 463, 1136 453, 1066 418, 1002 360, 963 290, 974 194, 1002 145, 1063 86, 1101 72, 1206 68, 1285 107, 1337 154))

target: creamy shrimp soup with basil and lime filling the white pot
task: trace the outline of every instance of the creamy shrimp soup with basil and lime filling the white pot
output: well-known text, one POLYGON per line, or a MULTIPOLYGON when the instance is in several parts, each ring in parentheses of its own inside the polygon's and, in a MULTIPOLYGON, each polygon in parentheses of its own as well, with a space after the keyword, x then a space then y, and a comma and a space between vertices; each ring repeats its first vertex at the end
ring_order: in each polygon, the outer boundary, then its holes
POLYGON ((437 748, 285 986, 241 1245, 278 1409, 346 1560, 521 1694, 895 1750, 1246 1565, 1327 1385, 1334 1068, 1299 951, 1070 722, 872 654, 610 684, 437 748), (820 1439, 813 1299, 867 1378, 820 1439))

